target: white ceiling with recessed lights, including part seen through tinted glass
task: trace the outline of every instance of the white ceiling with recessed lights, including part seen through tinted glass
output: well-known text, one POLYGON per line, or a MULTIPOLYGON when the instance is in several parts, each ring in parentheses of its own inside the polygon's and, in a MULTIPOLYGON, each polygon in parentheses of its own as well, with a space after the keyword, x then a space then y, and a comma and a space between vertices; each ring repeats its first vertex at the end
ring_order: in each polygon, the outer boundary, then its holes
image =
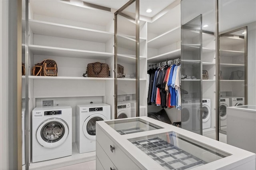
MULTIPOLYGON (((119 9, 129 0, 84 0, 93 4, 119 9)), ((154 17, 175 0, 140 0, 140 15, 154 17), (146 10, 152 9, 151 13, 146 10)), ((182 24, 203 14, 203 25, 208 25, 204 30, 215 30, 215 0, 183 0, 182 24)), ((126 11, 134 12, 134 6, 126 11), (133 10, 133 11, 132 11, 133 10)), ((256 0, 219 0, 219 27, 220 32, 228 28, 236 28, 240 25, 256 21, 256 0)))

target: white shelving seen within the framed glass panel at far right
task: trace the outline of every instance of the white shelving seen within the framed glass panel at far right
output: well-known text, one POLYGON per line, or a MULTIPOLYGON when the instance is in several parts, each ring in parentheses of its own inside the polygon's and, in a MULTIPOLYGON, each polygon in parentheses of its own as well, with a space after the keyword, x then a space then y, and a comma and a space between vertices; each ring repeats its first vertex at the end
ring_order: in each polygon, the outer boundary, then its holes
MULTIPOLYGON (((247 97, 247 27, 220 35, 220 95, 230 100, 232 97, 247 97)), ((221 115, 226 117, 226 111, 221 115)), ((220 132, 226 134, 226 119, 220 121, 220 132)))

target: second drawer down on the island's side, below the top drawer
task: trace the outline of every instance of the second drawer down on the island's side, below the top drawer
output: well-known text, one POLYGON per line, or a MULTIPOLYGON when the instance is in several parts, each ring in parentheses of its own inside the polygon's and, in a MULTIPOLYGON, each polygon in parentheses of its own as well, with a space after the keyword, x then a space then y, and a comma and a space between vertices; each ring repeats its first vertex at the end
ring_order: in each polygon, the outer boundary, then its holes
MULTIPOLYGON (((105 170, 116 170, 117 168, 114 166, 114 164, 111 162, 110 158, 108 158, 107 154, 104 152, 102 147, 98 142, 96 142, 96 157, 98 158, 99 162, 102 165, 102 168, 105 170)), ((96 160, 96 165, 97 165, 97 160, 96 160)), ((98 168, 96 167, 98 170, 98 168)))

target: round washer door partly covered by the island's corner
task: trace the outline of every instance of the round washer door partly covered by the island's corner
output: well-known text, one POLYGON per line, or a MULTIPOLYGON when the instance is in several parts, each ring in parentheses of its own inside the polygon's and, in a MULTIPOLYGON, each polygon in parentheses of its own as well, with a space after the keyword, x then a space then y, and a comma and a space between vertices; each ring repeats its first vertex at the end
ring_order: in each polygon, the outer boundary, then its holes
POLYGON ((91 140, 96 140, 96 121, 106 121, 107 118, 101 114, 90 115, 83 124, 84 135, 91 140))

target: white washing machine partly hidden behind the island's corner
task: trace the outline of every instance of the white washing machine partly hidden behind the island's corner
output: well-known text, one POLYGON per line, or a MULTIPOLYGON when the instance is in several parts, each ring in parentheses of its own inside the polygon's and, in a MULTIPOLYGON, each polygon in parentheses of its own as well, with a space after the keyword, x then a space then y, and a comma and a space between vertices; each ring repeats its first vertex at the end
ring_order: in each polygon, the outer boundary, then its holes
POLYGON ((76 106, 76 146, 79 153, 96 150, 96 121, 110 119, 110 105, 105 103, 76 106))

